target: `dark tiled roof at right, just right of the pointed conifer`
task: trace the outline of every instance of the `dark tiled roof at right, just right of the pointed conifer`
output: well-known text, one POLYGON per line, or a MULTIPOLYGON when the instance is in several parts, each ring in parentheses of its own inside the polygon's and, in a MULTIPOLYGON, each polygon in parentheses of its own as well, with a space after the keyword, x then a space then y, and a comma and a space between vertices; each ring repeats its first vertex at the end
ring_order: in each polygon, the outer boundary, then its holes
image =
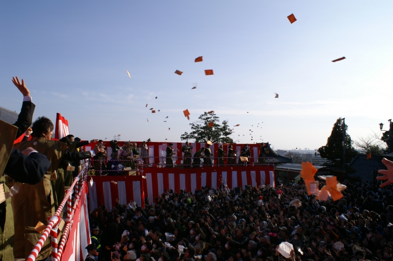
POLYGON ((348 174, 350 177, 361 177, 362 181, 375 181, 378 170, 386 170, 385 165, 381 162, 382 157, 379 155, 372 155, 371 159, 367 160, 366 154, 358 154, 352 159, 349 166, 355 169, 355 173, 348 174))

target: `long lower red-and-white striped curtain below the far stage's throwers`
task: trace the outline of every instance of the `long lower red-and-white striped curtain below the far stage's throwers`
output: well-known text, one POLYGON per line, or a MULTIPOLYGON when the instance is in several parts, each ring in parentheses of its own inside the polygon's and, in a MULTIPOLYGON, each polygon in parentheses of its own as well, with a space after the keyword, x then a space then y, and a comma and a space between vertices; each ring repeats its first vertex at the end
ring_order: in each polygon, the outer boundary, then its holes
MULTIPOLYGON (((151 200, 164 193, 164 189, 172 189, 175 192, 187 190, 194 192, 202 186, 217 189, 221 181, 230 189, 246 185, 275 186, 273 166, 249 166, 249 167, 203 167, 196 169, 167 169, 146 168, 144 174, 144 195, 151 200)), ((108 207, 108 206, 107 206, 108 207)))

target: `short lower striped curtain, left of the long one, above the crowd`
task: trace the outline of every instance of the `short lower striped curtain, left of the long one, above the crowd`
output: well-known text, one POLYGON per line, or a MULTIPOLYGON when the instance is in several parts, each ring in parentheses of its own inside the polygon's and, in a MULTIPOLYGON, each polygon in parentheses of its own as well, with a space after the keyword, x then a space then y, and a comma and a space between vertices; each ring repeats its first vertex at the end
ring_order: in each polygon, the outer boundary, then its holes
POLYGON ((144 207, 144 191, 142 176, 88 176, 89 208, 92 212, 100 205, 112 209, 116 199, 120 204, 135 201, 144 207))

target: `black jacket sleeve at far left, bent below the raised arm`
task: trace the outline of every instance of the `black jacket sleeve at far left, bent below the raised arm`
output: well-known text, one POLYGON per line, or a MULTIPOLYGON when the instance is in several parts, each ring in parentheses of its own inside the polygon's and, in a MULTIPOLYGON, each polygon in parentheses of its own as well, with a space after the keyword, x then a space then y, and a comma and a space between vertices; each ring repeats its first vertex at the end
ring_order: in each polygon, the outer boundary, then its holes
POLYGON ((34 185, 44 178, 50 166, 51 162, 41 153, 34 152, 26 156, 19 149, 13 148, 4 174, 18 182, 34 185))

